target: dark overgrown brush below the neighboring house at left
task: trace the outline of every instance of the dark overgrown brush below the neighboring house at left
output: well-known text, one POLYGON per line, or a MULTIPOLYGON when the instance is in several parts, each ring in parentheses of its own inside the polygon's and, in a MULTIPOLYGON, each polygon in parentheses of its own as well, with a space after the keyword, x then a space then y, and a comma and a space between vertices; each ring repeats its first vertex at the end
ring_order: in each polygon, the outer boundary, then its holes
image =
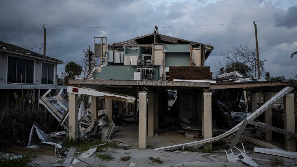
POLYGON ((14 145, 18 141, 28 143, 32 125, 44 132, 53 132, 56 127, 53 126, 55 118, 42 105, 38 108, 33 103, 28 103, 29 99, 25 94, 20 97, 14 94, 14 97, 15 103, 11 103, 9 109, 0 111, 0 147, 14 145))

